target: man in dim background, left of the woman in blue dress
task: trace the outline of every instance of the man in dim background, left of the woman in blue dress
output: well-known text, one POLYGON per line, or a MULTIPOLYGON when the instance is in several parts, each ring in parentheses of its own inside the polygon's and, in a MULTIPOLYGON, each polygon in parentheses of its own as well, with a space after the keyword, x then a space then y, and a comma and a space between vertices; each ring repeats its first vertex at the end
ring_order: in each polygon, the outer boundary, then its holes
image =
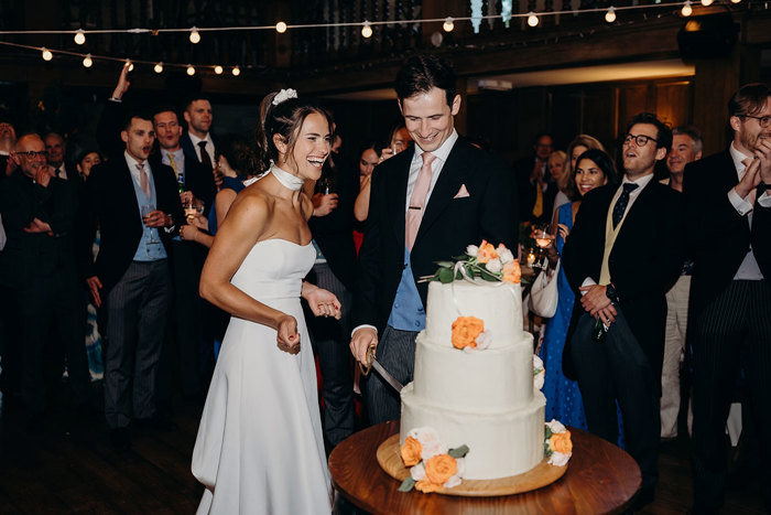
POLYGON ((533 143, 533 155, 514 163, 514 180, 519 194, 520 219, 551 223, 557 184, 549 172, 549 157, 554 141, 547 133, 540 133, 533 143))

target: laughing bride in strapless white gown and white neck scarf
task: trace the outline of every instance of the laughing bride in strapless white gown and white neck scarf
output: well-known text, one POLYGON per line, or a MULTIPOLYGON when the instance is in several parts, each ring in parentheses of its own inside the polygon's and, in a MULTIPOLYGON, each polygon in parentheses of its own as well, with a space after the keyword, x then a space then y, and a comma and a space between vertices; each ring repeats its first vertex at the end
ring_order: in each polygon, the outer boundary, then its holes
POLYGON ((332 120, 294 90, 269 95, 262 143, 273 164, 217 232, 200 294, 232 314, 202 415, 193 475, 198 513, 332 512, 316 371, 300 297, 315 315, 340 303, 303 281, 314 264, 306 180, 321 176, 332 120))

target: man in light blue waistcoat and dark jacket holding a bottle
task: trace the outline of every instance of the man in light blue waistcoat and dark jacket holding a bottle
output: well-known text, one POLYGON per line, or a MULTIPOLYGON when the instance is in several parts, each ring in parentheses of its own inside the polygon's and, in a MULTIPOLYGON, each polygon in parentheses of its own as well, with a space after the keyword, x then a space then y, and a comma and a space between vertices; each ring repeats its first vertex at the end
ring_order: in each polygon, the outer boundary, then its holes
POLYGON ((105 302, 105 415, 113 446, 130 446, 133 418, 155 416, 155 380, 172 298, 169 244, 184 221, 174 171, 148 163, 155 139, 149 116, 121 131, 122 157, 94 167, 86 182, 83 268, 94 303, 105 302), (96 261, 87 247, 99 224, 96 261), (133 412, 132 412, 133 406, 133 412))

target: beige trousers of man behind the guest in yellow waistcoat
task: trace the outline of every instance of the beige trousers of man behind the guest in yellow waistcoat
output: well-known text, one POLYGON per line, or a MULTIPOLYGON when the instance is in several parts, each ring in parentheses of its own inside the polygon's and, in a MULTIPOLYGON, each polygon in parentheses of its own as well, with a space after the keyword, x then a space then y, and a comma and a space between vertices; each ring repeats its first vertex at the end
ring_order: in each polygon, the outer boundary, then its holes
POLYGON ((688 323, 691 276, 680 276, 666 292, 666 337, 661 371, 661 438, 677 436, 680 414, 680 368, 688 323))

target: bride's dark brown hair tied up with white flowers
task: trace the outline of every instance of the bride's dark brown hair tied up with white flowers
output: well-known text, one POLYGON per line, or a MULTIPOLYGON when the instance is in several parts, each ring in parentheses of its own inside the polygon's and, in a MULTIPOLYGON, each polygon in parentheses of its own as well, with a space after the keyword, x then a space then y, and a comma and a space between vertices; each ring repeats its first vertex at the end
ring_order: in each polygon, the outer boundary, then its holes
MULTIPOLYGON (((273 142, 273 135, 280 135, 286 141, 286 154, 292 155, 294 144, 300 136, 300 129, 308 115, 318 112, 329 125, 329 135, 333 132, 332 114, 324 109, 316 100, 310 98, 287 98, 279 105, 273 100, 281 92, 268 94, 260 103, 261 124, 257 128, 257 142, 259 144, 258 164, 261 172, 267 171, 271 163, 279 162, 279 149, 273 142)), ((294 158, 287 158, 294 159, 294 158)))

